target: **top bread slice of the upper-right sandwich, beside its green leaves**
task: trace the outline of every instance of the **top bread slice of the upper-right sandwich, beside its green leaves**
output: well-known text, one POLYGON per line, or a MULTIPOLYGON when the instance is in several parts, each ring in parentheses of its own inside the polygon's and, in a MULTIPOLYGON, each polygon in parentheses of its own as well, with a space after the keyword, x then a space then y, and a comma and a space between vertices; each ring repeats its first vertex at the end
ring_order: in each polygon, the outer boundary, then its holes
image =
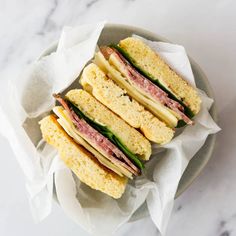
POLYGON ((200 110, 201 99, 197 90, 186 80, 173 71, 167 63, 142 40, 128 37, 119 42, 135 63, 155 79, 158 79, 166 89, 182 100, 194 114, 200 110))

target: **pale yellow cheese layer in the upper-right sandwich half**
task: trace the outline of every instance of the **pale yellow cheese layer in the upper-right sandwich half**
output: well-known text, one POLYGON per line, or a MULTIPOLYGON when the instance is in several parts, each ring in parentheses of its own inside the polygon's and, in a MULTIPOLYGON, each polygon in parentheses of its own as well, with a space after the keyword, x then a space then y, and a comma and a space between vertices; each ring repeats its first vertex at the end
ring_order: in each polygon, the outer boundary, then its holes
POLYGON ((177 126, 178 119, 168 107, 163 106, 160 102, 153 101, 149 97, 140 93, 140 88, 131 85, 127 78, 113 66, 118 67, 114 57, 110 57, 109 62, 105 59, 101 52, 95 54, 94 62, 97 64, 111 79, 113 79, 121 88, 125 89, 131 97, 140 102, 145 108, 151 111, 154 115, 164 121, 169 127, 177 126), (113 65, 112 65, 113 64, 113 65))

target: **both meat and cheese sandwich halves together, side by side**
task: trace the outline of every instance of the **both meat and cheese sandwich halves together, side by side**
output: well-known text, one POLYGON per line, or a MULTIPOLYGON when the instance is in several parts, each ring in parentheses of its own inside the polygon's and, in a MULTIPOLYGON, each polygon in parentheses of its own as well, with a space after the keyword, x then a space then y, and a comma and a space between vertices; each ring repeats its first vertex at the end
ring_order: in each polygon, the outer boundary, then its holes
POLYGON ((81 182, 116 199, 141 175, 150 142, 170 142, 201 106, 196 88, 133 37, 100 47, 80 83, 54 94, 58 106, 40 121, 42 136, 81 182))

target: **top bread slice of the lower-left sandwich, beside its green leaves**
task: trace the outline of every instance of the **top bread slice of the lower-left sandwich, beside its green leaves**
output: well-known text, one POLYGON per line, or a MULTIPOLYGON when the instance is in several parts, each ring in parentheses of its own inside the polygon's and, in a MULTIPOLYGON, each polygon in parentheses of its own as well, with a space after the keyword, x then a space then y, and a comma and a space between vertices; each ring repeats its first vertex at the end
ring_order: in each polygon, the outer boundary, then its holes
POLYGON ((149 159, 151 155, 150 142, 88 92, 82 89, 70 90, 66 94, 66 98, 78 106, 85 115, 97 123, 105 125, 131 152, 144 160, 149 159))

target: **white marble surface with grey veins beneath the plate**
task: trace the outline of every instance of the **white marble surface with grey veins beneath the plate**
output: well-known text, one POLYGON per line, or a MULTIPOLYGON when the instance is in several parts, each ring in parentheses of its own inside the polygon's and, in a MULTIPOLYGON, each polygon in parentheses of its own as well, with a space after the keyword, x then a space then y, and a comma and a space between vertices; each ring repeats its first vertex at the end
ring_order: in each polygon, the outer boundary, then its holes
MULTIPOLYGON (((0 86, 35 59, 63 25, 107 19, 149 29, 182 44, 215 91, 217 147, 202 174, 175 203, 167 236, 236 235, 236 2, 234 0, 0 0, 0 86)), ((1 88, 2 89, 2 88, 1 88)), ((42 223, 32 220, 24 177, 0 137, 0 235, 87 235, 54 204, 42 223)), ((150 219, 117 235, 158 235, 150 219)))

